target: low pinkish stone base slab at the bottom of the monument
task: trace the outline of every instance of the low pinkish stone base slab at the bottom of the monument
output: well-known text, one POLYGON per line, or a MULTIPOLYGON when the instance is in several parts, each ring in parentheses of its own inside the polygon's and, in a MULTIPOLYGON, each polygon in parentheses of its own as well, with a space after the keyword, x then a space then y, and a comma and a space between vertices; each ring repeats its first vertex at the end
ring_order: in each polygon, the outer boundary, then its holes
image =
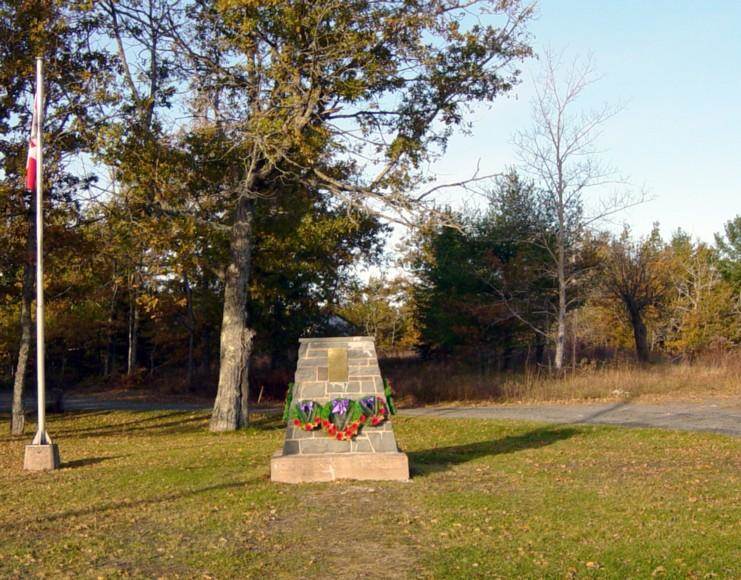
POLYGON ((283 455, 270 461, 270 479, 280 483, 311 483, 338 479, 407 481, 406 453, 324 453, 283 455))

